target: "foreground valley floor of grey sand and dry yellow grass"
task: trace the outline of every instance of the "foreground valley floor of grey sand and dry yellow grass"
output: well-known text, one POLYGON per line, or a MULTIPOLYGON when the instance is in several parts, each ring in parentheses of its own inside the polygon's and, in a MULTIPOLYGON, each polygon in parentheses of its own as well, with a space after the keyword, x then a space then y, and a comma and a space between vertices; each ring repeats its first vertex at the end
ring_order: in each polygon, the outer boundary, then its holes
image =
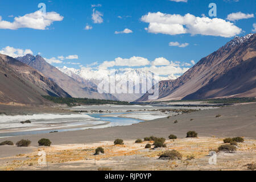
POLYGON ((27 135, 0 138, 32 141, 31 147, 0 146, 1 170, 97 170, 109 167, 113 170, 245 170, 246 164, 256 162, 256 104, 239 104, 180 114, 170 118, 159 118, 131 126, 108 127, 67 131, 61 133, 27 135), (216 115, 221 115, 216 117, 216 115), (177 120, 177 123, 174 121, 177 120), (189 130, 195 130, 198 138, 185 138, 189 130), (167 140, 167 148, 145 149, 148 142, 135 144, 137 138, 168 138, 177 135, 177 140, 167 140), (209 149, 217 148, 225 137, 245 137, 238 143, 236 153, 220 153, 217 165, 208 164, 209 149), (51 147, 38 147, 38 140, 49 138, 51 147), (124 140, 124 146, 114 146, 114 139, 124 140), (103 142, 108 141, 108 142, 103 142), (105 148, 105 154, 96 156, 98 146, 105 148), (39 166, 39 150, 46 151, 47 166, 39 166), (175 149, 183 154, 182 160, 159 160, 164 150, 175 149), (195 159, 186 160, 188 155, 195 159), (96 164, 94 162, 96 161, 96 164))

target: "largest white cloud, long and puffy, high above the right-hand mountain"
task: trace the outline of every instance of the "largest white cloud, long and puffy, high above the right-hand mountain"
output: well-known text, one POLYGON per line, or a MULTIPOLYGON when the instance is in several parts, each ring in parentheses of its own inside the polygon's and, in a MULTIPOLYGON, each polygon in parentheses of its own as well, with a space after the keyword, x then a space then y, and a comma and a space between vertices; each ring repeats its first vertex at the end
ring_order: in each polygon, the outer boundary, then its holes
POLYGON ((148 32, 154 34, 191 34, 191 35, 211 35, 223 36, 226 38, 241 33, 238 28, 231 22, 224 19, 208 17, 196 17, 192 14, 164 14, 164 13, 148 13, 142 16, 142 22, 149 23, 145 28, 148 32))

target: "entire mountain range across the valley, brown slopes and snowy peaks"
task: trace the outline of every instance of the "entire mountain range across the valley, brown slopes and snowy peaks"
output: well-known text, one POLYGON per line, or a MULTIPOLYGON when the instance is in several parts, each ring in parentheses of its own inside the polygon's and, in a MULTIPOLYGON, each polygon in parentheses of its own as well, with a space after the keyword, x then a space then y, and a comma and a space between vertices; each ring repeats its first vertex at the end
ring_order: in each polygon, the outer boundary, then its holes
MULTIPOLYGON (((170 75, 171 80, 160 77, 156 101, 256 97, 255 40, 256 34, 236 37, 201 59, 182 76, 170 75)), ((114 72, 115 81, 122 85, 147 74, 154 75, 141 69, 114 72)), ((148 92, 99 93, 97 85, 108 77, 108 70, 92 76, 86 68, 56 68, 39 55, 28 54, 14 59, 0 54, 0 104, 51 104, 42 96, 149 101, 148 92)), ((142 80, 133 89, 136 87, 142 87, 142 80)))

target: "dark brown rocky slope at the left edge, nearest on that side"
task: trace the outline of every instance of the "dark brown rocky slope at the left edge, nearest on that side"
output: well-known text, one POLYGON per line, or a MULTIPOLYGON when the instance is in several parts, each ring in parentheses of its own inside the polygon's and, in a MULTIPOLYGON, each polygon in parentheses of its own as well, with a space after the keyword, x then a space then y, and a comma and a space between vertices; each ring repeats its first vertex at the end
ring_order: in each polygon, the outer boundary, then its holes
POLYGON ((55 82, 20 61, 0 54, 0 103, 49 104, 42 95, 71 97, 55 82))

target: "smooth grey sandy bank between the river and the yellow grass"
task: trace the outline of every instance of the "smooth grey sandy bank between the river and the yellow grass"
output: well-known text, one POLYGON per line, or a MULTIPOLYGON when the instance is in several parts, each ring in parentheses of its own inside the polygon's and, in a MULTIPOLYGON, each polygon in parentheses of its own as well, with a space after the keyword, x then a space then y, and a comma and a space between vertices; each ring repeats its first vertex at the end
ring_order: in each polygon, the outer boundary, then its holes
MULTIPOLYGON (((256 139, 256 104, 235 105, 221 107, 219 109, 201 110, 188 114, 180 114, 170 118, 160 118, 152 121, 137 123, 131 126, 117 126, 103 129, 89 129, 79 131, 67 131, 61 133, 47 133, 27 135, 19 137, 0 138, 12 140, 14 143, 20 139, 30 139, 31 146, 37 146, 40 138, 49 138, 52 144, 94 143, 101 141, 144 138, 149 135, 167 138, 170 133, 184 138, 187 131, 195 130, 199 137, 237 137, 256 139), (216 118, 220 114, 221 117, 216 118), (190 121, 193 119, 192 121, 190 121), (174 123, 177 120, 178 123, 174 123)), ((16 154, 10 150, 19 150, 6 146, 0 146, 0 156, 16 154)))

